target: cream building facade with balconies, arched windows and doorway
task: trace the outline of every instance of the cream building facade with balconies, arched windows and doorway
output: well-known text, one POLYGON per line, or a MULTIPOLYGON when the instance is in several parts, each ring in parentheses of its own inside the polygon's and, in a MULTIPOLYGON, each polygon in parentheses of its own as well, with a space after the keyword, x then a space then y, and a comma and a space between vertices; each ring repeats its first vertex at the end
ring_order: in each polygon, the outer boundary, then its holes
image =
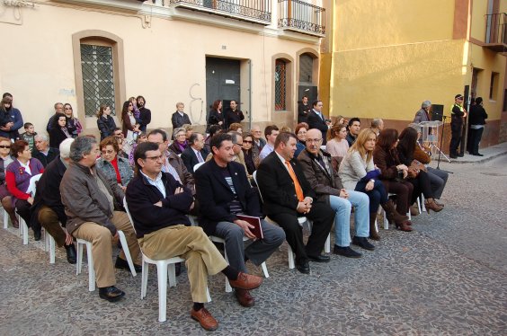
MULTIPOLYGON (((251 123, 292 126, 298 92, 319 81, 325 8, 299 0, 4 1, 0 91, 39 132, 69 102, 98 135, 100 104, 120 116, 143 95, 148 129, 171 127, 176 102, 200 130, 215 100, 236 100, 251 123)), ((118 118, 117 117, 117 118, 118 118)), ((120 122, 117 122, 120 126, 120 122)))

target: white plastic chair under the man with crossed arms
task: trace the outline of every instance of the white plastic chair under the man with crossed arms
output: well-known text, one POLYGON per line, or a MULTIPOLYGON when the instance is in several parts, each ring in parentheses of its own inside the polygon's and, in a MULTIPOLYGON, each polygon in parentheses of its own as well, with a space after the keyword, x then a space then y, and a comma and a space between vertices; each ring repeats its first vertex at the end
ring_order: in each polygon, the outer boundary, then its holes
MULTIPOLYGON (((134 227, 134 221, 130 216, 129 206, 127 204, 127 199, 123 199, 123 207, 127 211, 127 215, 130 219, 130 224, 134 227)), ((135 230, 135 227, 134 227, 135 230)), ((149 264, 156 265, 156 274, 157 274, 157 282, 158 282, 158 322, 165 322, 167 320, 167 278, 169 278, 169 287, 176 286, 176 270, 174 264, 176 262, 184 262, 185 260, 180 257, 173 257, 169 259, 155 261, 146 256, 146 254, 141 249, 141 254, 143 256, 143 272, 142 272, 142 280, 141 280, 141 299, 147 296, 147 279, 148 279, 148 271, 149 264)), ((209 296, 209 290, 206 288, 206 294, 208 296, 208 302, 211 301, 211 297, 209 296)))

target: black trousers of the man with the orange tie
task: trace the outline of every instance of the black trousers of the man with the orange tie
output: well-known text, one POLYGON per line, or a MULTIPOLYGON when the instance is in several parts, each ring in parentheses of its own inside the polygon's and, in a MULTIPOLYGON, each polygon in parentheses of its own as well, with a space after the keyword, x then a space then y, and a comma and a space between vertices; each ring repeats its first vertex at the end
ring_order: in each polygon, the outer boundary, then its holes
POLYGON ((313 222, 312 233, 308 237, 307 246, 303 243, 303 230, 295 214, 278 213, 269 217, 285 231, 287 243, 294 253, 296 262, 308 260, 308 255, 317 256, 324 250, 325 240, 334 222, 334 210, 323 202, 314 202, 306 216, 313 222))

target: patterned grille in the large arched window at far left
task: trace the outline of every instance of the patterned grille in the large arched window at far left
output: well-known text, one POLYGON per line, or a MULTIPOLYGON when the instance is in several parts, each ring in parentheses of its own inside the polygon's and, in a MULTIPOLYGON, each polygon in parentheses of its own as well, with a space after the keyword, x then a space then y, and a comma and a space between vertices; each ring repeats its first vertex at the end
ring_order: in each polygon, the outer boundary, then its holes
POLYGON ((83 71, 84 114, 94 116, 102 104, 115 111, 114 71, 112 48, 81 45, 81 68, 83 71))

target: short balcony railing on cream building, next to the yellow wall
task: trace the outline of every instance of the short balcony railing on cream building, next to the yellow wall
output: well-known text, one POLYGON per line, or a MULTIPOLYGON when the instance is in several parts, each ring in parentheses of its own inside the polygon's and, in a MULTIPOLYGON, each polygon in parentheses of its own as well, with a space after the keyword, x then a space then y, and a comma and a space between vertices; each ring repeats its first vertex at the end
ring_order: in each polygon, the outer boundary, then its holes
POLYGON ((308 4, 300 0, 278 0, 279 28, 325 35, 325 8, 308 4))

